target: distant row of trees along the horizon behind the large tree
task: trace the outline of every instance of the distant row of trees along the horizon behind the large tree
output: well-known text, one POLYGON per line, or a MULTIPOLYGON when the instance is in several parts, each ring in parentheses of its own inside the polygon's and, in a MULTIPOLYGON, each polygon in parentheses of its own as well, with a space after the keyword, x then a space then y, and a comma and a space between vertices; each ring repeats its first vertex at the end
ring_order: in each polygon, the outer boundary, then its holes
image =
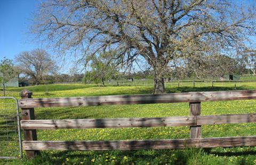
MULTIPOLYGON (((246 49, 237 52, 237 56, 215 54, 203 56, 195 60, 174 60, 163 69, 163 77, 168 80, 187 78, 200 80, 218 80, 224 75, 253 74, 256 70, 255 50, 246 49)), ((45 50, 21 52, 12 60, 4 59, 0 64, 0 81, 3 87, 7 81, 19 76, 19 82, 26 85, 42 85, 53 83, 100 83, 116 81, 117 85, 127 79, 154 79, 154 68, 146 70, 129 70, 121 65, 115 51, 106 51, 97 57, 91 56, 84 73, 73 71, 60 73, 57 63, 45 50)), ((138 65, 143 65, 139 63, 138 65)))

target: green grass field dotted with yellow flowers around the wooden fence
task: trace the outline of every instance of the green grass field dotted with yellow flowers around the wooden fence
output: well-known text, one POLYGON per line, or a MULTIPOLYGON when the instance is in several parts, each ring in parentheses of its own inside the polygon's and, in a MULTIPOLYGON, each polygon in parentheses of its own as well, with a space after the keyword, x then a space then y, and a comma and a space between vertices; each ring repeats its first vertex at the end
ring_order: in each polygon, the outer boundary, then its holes
MULTIPOLYGON (((234 90, 234 83, 166 84, 167 93, 234 90)), ((98 87, 62 84, 26 87, 33 97, 71 97, 97 95, 148 94, 153 87, 98 87)), ((256 89, 256 83, 237 83, 237 90, 256 89)), ((7 95, 19 98, 24 88, 8 88, 7 95)), ((256 101, 203 102, 202 115, 255 113, 256 101)), ((36 119, 100 119, 188 116, 188 103, 88 106, 79 108, 37 108, 36 119)), ((202 137, 256 135, 256 123, 211 125, 202 127, 202 137)), ((38 140, 126 140, 188 138, 189 127, 58 129, 38 130, 38 140)), ((1 142, 0 142, 1 143, 1 142)), ((9 145, 11 147, 11 144, 9 145)), ((8 153, 8 148, 2 153, 8 153)), ((1 152, 0 152, 1 153, 1 152)), ((11 153, 10 153, 11 154, 11 153)), ((2 164, 256 164, 256 147, 138 151, 43 151, 36 159, 0 160, 2 164)))

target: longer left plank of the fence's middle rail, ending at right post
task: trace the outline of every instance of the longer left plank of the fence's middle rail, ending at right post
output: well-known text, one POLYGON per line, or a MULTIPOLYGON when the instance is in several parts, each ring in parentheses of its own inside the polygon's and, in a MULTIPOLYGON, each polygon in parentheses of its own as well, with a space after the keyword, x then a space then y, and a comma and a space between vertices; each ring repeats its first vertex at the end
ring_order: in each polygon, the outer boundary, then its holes
POLYGON ((60 128, 125 128, 195 126, 196 117, 123 118, 123 119, 74 119, 74 120, 21 120, 22 129, 60 128))

